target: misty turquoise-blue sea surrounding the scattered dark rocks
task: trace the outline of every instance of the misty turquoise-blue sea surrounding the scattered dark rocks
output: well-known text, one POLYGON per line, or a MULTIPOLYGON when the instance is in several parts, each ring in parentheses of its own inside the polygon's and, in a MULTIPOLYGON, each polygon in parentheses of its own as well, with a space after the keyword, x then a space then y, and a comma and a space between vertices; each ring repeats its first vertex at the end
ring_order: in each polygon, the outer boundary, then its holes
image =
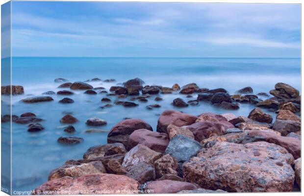
MULTIPOLYGON (((107 133, 84 133, 88 128, 86 120, 99 117, 107 121, 102 129, 109 130, 123 118, 140 118, 150 123, 156 129, 158 115, 165 109, 177 109, 186 113, 199 115, 203 112, 234 113, 248 116, 253 109, 251 104, 241 104, 239 110, 223 110, 213 107, 210 103, 200 103, 198 106, 175 108, 170 103, 174 98, 185 100, 185 95, 161 95, 163 101, 157 102, 161 108, 147 110, 145 107, 156 103, 154 97, 147 103, 139 103, 135 108, 124 108, 114 105, 101 109, 101 98, 104 94, 84 95, 76 91, 73 104, 60 104, 58 100, 65 96, 53 95, 54 101, 26 104, 19 100, 39 96, 46 91, 58 91, 58 83, 54 79, 63 77, 70 81, 84 81, 95 77, 116 79, 115 83, 90 82, 94 87, 105 87, 122 83, 128 79, 139 77, 147 85, 162 85, 171 87, 174 83, 183 86, 196 82, 201 88, 223 87, 232 95, 236 90, 251 86, 254 94, 269 92, 277 82, 285 82, 297 89, 301 85, 300 58, 49 58, 49 57, 14 57, 12 59, 12 84, 22 85, 25 95, 14 96, 12 99, 13 114, 25 112, 35 113, 42 122, 45 130, 28 133, 27 126, 13 123, 12 127, 12 177, 13 190, 28 191, 47 181, 49 172, 61 166, 68 159, 82 158, 87 148, 105 144, 107 133), (102 83, 102 84, 101 84, 102 83), (84 138, 84 142, 73 146, 57 143, 60 136, 68 136, 60 128, 59 122, 63 112, 73 112, 79 120, 74 124, 74 136, 84 138)), ((112 100, 116 98, 110 97, 112 100)), ((265 99, 261 97, 262 99, 265 99)), ((128 100, 126 98, 125 100, 128 100)), ((2 103, 5 104, 5 103, 2 103)), ((269 112, 275 116, 273 112, 269 112)), ((9 124, 6 123, 5 126, 9 124)))

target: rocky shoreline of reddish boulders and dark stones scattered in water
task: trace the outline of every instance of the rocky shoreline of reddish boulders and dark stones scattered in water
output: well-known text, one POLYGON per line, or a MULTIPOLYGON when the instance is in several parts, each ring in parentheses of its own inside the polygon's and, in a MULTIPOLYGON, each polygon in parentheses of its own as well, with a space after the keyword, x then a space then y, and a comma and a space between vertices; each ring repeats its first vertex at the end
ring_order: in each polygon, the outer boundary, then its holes
MULTIPOLYGON (((90 81, 101 81, 93 78, 90 81)), ((114 82, 114 79, 103 82, 114 82)), ((101 99, 104 107, 111 103, 136 107, 148 98, 161 101, 161 94, 179 93, 187 98, 176 98, 178 108, 199 105, 200 102, 226 110, 237 110, 239 103, 255 105, 248 117, 232 113, 203 113, 198 116, 177 110, 160 114, 156 131, 141 119, 126 119, 111 128, 107 144, 90 147, 83 159, 67 160, 50 172, 48 181, 35 189, 36 194, 118 194, 118 193, 225 193, 225 192, 290 192, 295 184, 301 186, 301 96, 299 91, 285 83, 277 83, 269 93, 253 95, 251 87, 230 95, 223 88, 200 88, 195 83, 171 88, 144 86, 139 78, 112 86, 108 93, 103 87, 85 82, 69 82, 56 78, 58 88, 41 97, 25 98, 25 104, 53 101, 52 95, 106 94, 101 99), (268 97, 264 100, 258 96, 268 97), (115 98, 115 99, 113 99, 115 98), (128 100, 126 100, 126 98, 128 100), (137 101, 138 100, 138 101, 137 101), (135 102, 136 101, 136 102, 135 102), (276 119, 260 108, 277 112, 276 119)), ((24 94, 21 86, 2 86, 1 95, 24 94)), ((63 98, 58 104, 73 104, 72 98, 63 98)), ((147 106, 148 110, 161 107, 147 106)), ((1 122, 26 124, 29 132, 43 131, 40 119, 27 112, 21 116, 1 115, 1 122)), ((60 123, 67 124, 65 132, 73 134, 72 125, 79 122, 66 114, 60 123)), ((93 117, 86 123, 92 127, 105 125, 103 119, 93 117)), ((104 132, 92 128, 88 132, 104 132)), ((61 144, 83 142, 75 136, 58 138, 61 144)))

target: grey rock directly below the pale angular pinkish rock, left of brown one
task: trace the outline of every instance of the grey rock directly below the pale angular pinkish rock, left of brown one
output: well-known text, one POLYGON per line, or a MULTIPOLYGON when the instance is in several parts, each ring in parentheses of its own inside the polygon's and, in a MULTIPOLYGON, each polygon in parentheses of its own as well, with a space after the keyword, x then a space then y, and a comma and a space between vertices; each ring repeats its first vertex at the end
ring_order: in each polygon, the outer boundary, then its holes
POLYGON ((155 170, 151 164, 138 163, 127 172, 126 176, 143 184, 144 182, 155 180, 155 170))

